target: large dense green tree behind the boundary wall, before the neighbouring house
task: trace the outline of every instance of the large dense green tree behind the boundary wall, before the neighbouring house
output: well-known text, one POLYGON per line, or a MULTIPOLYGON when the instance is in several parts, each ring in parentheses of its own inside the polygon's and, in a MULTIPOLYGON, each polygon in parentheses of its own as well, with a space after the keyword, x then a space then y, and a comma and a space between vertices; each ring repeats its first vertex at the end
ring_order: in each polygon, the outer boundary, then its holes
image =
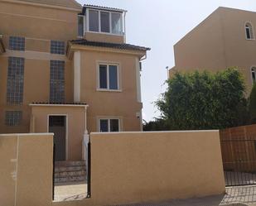
POLYGON ((246 118, 241 118, 247 101, 238 69, 176 73, 167 84, 156 105, 171 130, 221 129, 246 118))

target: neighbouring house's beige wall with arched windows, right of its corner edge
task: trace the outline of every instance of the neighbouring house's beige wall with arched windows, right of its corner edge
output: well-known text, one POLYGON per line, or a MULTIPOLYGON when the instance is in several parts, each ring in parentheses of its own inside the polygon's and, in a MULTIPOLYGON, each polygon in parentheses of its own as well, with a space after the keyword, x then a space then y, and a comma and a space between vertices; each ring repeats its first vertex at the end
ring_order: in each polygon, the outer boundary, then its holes
POLYGON ((225 35, 225 59, 227 66, 236 66, 244 75, 249 95, 253 81, 251 68, 256 65, 256 41, 246 40, 245 23, 250 22, 256 32, 256 12, 239 9, 222 9, 222 19, 225 35))

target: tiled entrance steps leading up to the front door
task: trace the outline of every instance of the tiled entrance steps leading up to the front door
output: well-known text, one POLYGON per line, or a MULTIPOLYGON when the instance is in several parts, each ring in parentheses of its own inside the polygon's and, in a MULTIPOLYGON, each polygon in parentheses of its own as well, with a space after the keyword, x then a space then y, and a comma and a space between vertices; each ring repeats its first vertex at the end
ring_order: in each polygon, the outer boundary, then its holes
POLYGON ((55 183, 85 181, 85 161, 56 161, 54 177, 55 183))

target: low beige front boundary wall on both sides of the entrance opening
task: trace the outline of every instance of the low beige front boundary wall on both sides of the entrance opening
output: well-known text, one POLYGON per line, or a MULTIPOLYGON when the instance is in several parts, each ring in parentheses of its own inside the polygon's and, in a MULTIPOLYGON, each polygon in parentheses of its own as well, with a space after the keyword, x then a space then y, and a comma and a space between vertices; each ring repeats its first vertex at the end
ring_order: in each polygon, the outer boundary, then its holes
POLYGON ((52 135, 0 135, 6 165, 0 206, 120 205, 225 193, 218 131, 92 133, 90 141, 91 198, 52 202, 52 135))

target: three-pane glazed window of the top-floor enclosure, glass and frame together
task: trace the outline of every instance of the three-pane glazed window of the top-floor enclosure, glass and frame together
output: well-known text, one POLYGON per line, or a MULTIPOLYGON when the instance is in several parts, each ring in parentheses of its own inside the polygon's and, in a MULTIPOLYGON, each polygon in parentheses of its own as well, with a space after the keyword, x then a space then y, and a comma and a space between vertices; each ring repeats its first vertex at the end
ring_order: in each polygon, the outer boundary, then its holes
POLYGON ((123 35, 123 15, 89 9, 89 31, 123 35))

